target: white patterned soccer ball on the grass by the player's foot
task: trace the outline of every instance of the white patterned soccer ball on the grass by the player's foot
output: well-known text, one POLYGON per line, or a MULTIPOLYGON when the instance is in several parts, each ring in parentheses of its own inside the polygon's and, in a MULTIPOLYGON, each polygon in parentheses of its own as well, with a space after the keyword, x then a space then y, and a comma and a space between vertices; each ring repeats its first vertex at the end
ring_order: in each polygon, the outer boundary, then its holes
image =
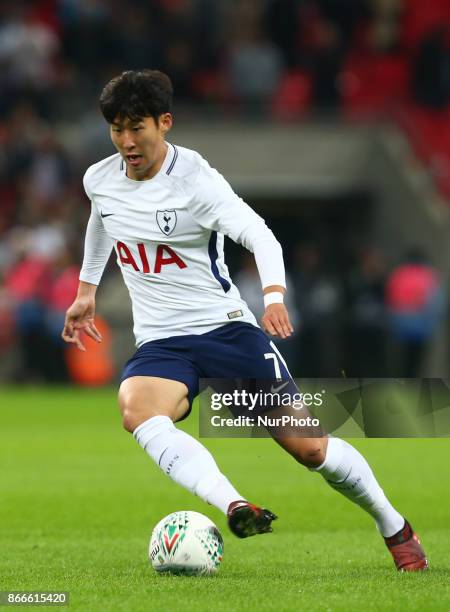
POLYGON ((207 516, 182 510, 159 521, 153 529, 148 554, 157 572, 213 574, 222 561, 223 539, 207 516))

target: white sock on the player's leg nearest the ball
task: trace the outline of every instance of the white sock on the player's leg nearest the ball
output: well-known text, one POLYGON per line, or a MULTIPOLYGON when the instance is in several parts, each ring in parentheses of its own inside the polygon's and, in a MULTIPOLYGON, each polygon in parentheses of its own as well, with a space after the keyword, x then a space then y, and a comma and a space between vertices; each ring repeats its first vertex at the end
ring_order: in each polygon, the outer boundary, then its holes
POLYGON ((172 480, 227 513, 231 502, 244 499, 220 472, 211 453, 177 429, 167 416, 155 416, 133 431, 134 438, 172 480))

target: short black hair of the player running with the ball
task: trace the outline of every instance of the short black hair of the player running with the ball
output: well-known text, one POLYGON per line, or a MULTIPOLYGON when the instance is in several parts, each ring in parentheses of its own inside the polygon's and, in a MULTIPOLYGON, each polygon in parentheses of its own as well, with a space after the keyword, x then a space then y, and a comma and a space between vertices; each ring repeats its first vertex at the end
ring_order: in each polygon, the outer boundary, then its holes
POLYGON ((100 109, 106 121, 117 118, 139 121, 153 117, 157 122, 172 110, 173 87, 170 78, 159 70, 126 70, 105 85, 100 109))

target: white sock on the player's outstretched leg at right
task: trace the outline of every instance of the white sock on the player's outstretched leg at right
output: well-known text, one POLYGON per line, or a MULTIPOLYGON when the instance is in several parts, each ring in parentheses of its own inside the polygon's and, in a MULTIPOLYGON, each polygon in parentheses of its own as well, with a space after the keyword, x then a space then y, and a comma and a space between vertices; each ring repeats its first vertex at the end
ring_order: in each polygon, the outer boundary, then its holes
POLYGON ((311 469, 319 472, 333 489, 368 512, 385 538, 403 528, 405 519, 389 503, 367 461, 348 442, 328 438, 325 461, 311 469))

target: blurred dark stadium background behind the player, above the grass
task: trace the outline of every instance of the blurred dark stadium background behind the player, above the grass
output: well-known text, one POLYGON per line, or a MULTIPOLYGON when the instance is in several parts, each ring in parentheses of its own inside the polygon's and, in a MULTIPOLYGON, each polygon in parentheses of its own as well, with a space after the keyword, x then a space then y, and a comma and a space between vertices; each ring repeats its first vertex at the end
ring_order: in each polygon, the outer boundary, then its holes
MULTIPOLYGON (((59 333, 89 215, 81 178, 114 152, 98 95, 142 67, 174 82, 169 140, 283 244, 293 373, 445 377, 448 0, 35 0, 0 2, 0 381, 104 384, 133 351, 113 262, 98 299, 111 335, 88 377, 59 333)), ((261 309, 251 260, 229 240, 227 255, 261 309)))

